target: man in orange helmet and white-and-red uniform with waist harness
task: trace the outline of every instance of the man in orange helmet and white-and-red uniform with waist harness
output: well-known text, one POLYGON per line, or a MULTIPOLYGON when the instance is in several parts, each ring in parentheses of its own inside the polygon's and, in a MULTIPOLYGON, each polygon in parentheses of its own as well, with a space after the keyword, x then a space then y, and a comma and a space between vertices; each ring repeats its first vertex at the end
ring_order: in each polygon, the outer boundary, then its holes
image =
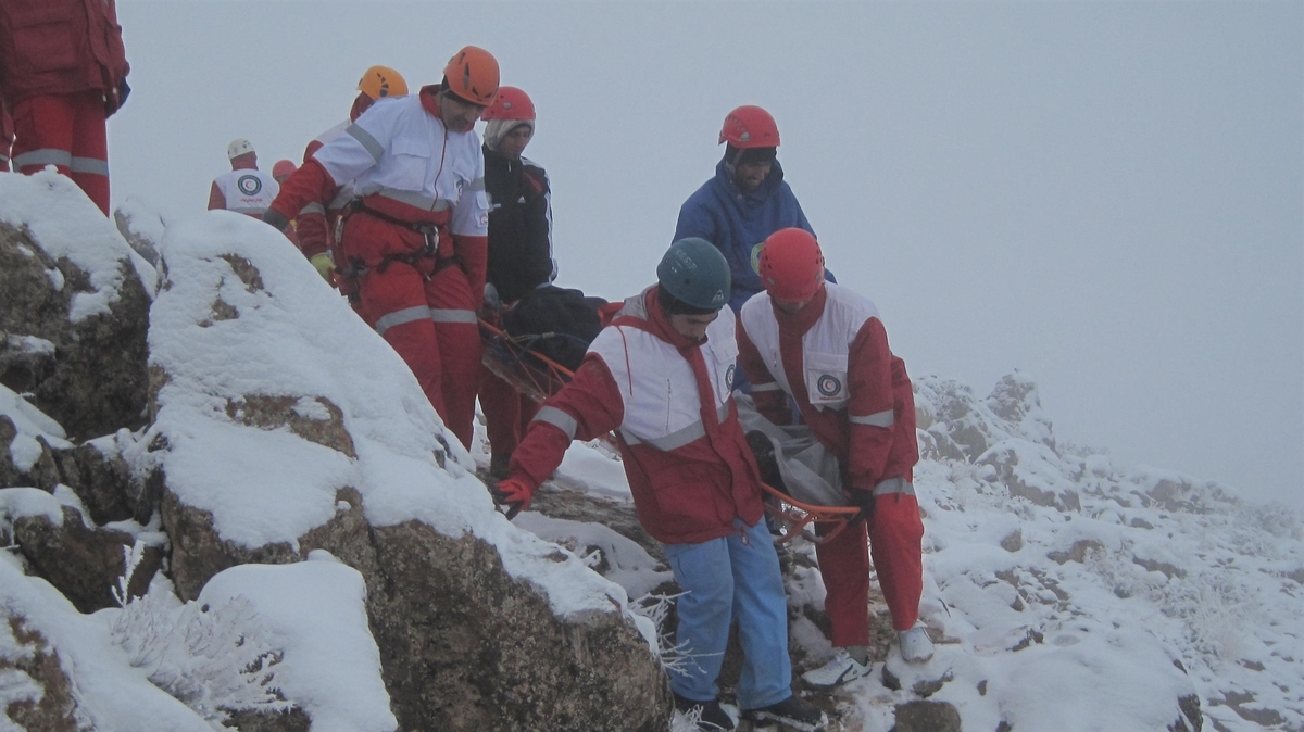
POLYGON ((498 92, 498 61, 467 46, 443 77, 373 104, 286 180, 263 221, 284 231, 304 206, 329 203, 352 182, 340 246, 357 314, 469 447, 489 227, 475 124, 498 92))

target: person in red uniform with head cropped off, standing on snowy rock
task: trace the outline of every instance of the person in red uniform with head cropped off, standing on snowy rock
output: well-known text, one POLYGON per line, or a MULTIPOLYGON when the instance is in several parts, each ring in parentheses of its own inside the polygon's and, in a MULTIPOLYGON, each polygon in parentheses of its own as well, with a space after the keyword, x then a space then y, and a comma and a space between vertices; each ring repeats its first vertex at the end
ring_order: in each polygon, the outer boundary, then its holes
POLYGON ((55 165, 108 215, 104 120, 126 102, 113 0, 0 3, 0 98, 13 112, 14 169, 55 165))

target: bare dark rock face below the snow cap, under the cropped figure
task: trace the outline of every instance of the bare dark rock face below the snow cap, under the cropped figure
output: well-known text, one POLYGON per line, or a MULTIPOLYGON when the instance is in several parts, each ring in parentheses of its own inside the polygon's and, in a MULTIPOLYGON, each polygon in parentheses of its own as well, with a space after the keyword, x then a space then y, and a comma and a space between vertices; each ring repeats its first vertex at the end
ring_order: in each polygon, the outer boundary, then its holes
POLYGON ((130 262, 119 267, 110 313, 74 323, 73 296, 95 290, 87 272, 51 259, 26 229, 0 223, 0 383, 30 393, 74 439, 143 423, 150 298, 130 262), (22 337, 53 344, 53 352, 17 348, 22 337))

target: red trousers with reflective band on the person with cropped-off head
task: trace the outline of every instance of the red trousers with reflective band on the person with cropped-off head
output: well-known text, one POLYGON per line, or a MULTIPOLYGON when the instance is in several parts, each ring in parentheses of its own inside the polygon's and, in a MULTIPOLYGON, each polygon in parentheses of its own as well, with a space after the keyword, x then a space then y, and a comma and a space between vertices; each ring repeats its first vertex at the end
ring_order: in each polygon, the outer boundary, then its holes
POLYGON ((108 215, 108 139, 102 91, 30 96, 13 107, 13 168, 55 165, 108 215))

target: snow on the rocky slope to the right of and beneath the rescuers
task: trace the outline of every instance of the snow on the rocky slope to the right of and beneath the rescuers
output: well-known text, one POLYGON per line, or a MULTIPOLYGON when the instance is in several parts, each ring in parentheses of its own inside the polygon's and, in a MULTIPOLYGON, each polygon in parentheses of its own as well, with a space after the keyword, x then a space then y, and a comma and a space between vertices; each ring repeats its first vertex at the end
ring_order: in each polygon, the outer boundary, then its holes
MULTIPOLYGON (((921 430, 921 444, 936 445, 948 432, 965 436, 968 427, 991 447, 977 460, 934 452, 918 465, 926 529, 921 615, 938 653, 914 668, 893 646, 875 673, 840 689, 845 729, 888 732, 895 705, 919 698, 911 683, 939 677, 949 680, 930 698, 956 705, 965 729, 1001 722, 1058 732, 1166 729, 1180 716, 1178 699, 1191 694, 1206 729, 1304 728, 1297 516, 1181 473, 1124 472, 1106 455, 1056 445, 1026 375, 1012 375, 986 401, 953 382, 922 383, 926 399, 939 399, 944 414, 938 429, 921 430), (1009 402, 1011 384, 1030 389, 1022 408, 1009 402), (1011 496, 1003 466, 1011 466, 1009 479, 1047 496, 1076 495, 1081 511, 1011 496), (901 679, 901 690, 884 685, 883 666, 901 679)), ((476 449, 488 461, 488 448, 476 449)), ((627 496, 623 475, 612 477, 618 468, 576 443, 554 482, 627 496)), ((604 541, 592 526, 533 512, 516 524, 580 547, 604 541)), ((793 551, 814 561, 803 539, 793 551)), ((608 577, 631 597, 665 572, 612 564, 619 572, 608 577)), ((832 649, 801 613, 802 606, 823 606, 819 573, 797 564, 788 586, 793 636, 808 664, 822 663, 832 649)), ((874 611, 887 612, 880 598, 874 611)))

